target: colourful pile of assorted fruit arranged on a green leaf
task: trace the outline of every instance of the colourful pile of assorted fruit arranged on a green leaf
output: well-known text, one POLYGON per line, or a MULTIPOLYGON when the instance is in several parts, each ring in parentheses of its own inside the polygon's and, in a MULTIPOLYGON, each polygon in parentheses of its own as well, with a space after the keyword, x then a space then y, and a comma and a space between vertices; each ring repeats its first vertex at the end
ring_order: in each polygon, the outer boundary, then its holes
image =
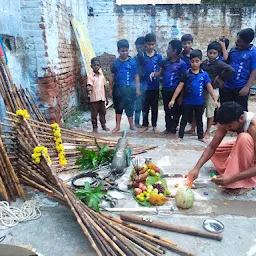
POLYGON ((143 166, 134 168, 129 188, 135 200, 144 206, 163 205, 168 201, 170 191, 162 178, 163 172, 156 164, 146 161, 143 166))

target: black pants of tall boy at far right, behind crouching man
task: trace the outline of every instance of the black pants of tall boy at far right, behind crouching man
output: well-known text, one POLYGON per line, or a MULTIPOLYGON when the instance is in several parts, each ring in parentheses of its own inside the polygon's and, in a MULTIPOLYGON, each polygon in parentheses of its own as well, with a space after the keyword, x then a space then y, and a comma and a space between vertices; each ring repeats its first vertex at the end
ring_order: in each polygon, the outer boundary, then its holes
POLYGON ((239 91, 242 88, 223 88, 220 91, 220 103, 228 102, 228 101, 235 101, 239 103, 244 111, 248 111, 248 97, 247 96, 239 96, 239 91))

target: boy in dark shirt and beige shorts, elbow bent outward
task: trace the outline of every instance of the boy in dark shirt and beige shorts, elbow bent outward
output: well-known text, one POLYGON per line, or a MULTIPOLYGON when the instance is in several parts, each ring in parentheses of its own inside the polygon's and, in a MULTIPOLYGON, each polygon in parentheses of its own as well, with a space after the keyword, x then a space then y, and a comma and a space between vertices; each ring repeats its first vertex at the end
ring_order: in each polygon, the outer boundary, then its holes
MULTIPOLYGON (((224 81, 229 79, 235 72, 235 70, 230 65, 226 64, 224 61, 217 59, 220 53, 220 43, 216 41, 211 42, 207 47, 208 59, 203 61, 201 65, 201 68, 206 71, 210 76, 216 99, 219 98, 219 88, 223 88, 224 81)), ((207 90, 205 90, 204 92, 204 99, 207 117, 207 128, 204 137, 205 139, 208 139, 210 137, 210 128, 214 120, 215 105, 207 90)))

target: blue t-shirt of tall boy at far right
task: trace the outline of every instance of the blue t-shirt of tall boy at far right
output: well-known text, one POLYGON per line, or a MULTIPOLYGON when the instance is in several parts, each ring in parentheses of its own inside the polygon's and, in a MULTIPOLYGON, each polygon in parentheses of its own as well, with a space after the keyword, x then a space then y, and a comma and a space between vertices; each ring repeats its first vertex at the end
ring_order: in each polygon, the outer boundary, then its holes
POLYGON ((235 69, 235 73, 224 87, 243 88, 248 82, 251 72, 256 69, 256 47, 250 45, 250 48, 246 50, 233 47, 229 52, 228 62, 235 69))

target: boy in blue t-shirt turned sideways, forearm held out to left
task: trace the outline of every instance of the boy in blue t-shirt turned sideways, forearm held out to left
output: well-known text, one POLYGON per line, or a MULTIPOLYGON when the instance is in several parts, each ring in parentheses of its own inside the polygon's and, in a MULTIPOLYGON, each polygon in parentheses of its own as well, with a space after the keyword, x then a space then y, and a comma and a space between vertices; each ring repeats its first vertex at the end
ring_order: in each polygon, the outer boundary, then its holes
POLYGON ((181 97, 180 95, 175 101, 174 106, 170 109, 168 104, 179 85, 180 78, 186 73, 187 65, 180 59, 179 55, 182 50, 180 40, 172 40, 169 42, 167 49, 167 58, 163 61, 160 72, 153 72, 151 77, 163 76, 163 102, 165 111, 165 127, 164 134, 176 134, 177 126, 181 116, 181 97))

